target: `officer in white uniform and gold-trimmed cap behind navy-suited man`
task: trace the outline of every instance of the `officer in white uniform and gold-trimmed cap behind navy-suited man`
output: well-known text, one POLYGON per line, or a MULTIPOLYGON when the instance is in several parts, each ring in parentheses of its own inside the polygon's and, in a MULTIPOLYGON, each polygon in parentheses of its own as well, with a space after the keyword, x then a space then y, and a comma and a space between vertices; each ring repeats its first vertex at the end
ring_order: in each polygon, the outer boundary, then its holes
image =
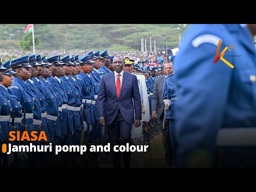
MULTIPOLYGON (((141 98, 141 106, 142 106, 142 119, 140 120, 142 123, 148 123, 150 120, 149 114, 149 103, 148 103, 148 93, 146 86, 146 78, 142 73, 133 73, 132 68, 134 66, 134 61, 137 58, 132 56, 124 56, 124 71, 136 75, 138 79, 138 86, 140 90, 140 98, 141 98)), ((143 145, 143 134, 142 134, 142 123, 139 127, 135 127, 134 123, 132 124, 132 142, 134 145, 143 145)), ((136 152, 136 160, 138 164, 138 168, 143 168, 143 156, 141 152, 136 152)))

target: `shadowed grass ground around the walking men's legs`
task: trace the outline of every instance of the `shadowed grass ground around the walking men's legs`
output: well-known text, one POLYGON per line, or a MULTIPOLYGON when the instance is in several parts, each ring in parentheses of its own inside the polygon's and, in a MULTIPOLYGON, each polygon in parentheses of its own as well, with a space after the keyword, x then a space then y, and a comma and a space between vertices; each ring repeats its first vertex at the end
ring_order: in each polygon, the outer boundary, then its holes
MULTIPOLYGON (((155 135, 153 139, 150 140, 150 151, 152 156, 152 163, 150 162, 150 153, 147 149, 147 152, 143 152, 144 158, 144 168, 169 168, 164 160, 164 146, 162 143, 162 133, 155 135)), ((148 142, 145 143, 148 145, 148 142)), ((99 163, 102 168, 112 168, 112 163, 99 163)), ((124 165, 122 164, 122 167, 124 165)), ((132 156, 132 168, 136 168, 136 159, 135 156, 132 156)))

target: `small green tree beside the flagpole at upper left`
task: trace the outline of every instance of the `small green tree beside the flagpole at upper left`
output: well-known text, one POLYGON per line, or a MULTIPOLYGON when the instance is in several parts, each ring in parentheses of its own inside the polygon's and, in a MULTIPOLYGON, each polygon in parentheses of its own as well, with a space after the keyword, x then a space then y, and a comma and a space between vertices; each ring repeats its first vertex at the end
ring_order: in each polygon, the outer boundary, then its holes
MULTIPOLYGON (((39 35, 34 36, 35 46, 39 44, 39 35)), ((21 41, 18 41, 18 45, 22 49, 23 53, 33 49, 33 38, 32 33, 26 33, 21 41)))

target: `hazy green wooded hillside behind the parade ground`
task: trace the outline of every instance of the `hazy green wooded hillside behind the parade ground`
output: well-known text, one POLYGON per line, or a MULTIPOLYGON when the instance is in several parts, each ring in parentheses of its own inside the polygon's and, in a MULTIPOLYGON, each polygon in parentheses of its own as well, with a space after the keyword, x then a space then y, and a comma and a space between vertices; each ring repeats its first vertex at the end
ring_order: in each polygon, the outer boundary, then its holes
MULTIPOLYGON (((0 24, 0 49, 20 50, 28 24, 0 24)), ((141 38, 146 39, 147 51, 175 48, 179 45, 186 24, 34 24, 34 35, 39 35, 37 50, 141 50, 141 38)), ((32 36, 32 33, 31 33, 32 36)), ((144 41, 145 43, 145 41, 144 41)))

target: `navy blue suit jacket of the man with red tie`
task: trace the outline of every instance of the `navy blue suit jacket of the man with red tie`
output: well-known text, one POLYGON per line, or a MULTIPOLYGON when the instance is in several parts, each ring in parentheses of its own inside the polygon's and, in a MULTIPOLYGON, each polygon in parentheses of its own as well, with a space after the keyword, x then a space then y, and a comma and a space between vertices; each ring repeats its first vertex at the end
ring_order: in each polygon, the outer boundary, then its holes
POLYGON ((133 74, 124 72, 119 98, 116 94, 114 72, 102 76, 97 102, 98 116, 104 117, 107 125, 113 122, 118 108, 127 123, 134 123, 134 110, 135 119, 141 120, 140 91, 137 77, 133 74))

